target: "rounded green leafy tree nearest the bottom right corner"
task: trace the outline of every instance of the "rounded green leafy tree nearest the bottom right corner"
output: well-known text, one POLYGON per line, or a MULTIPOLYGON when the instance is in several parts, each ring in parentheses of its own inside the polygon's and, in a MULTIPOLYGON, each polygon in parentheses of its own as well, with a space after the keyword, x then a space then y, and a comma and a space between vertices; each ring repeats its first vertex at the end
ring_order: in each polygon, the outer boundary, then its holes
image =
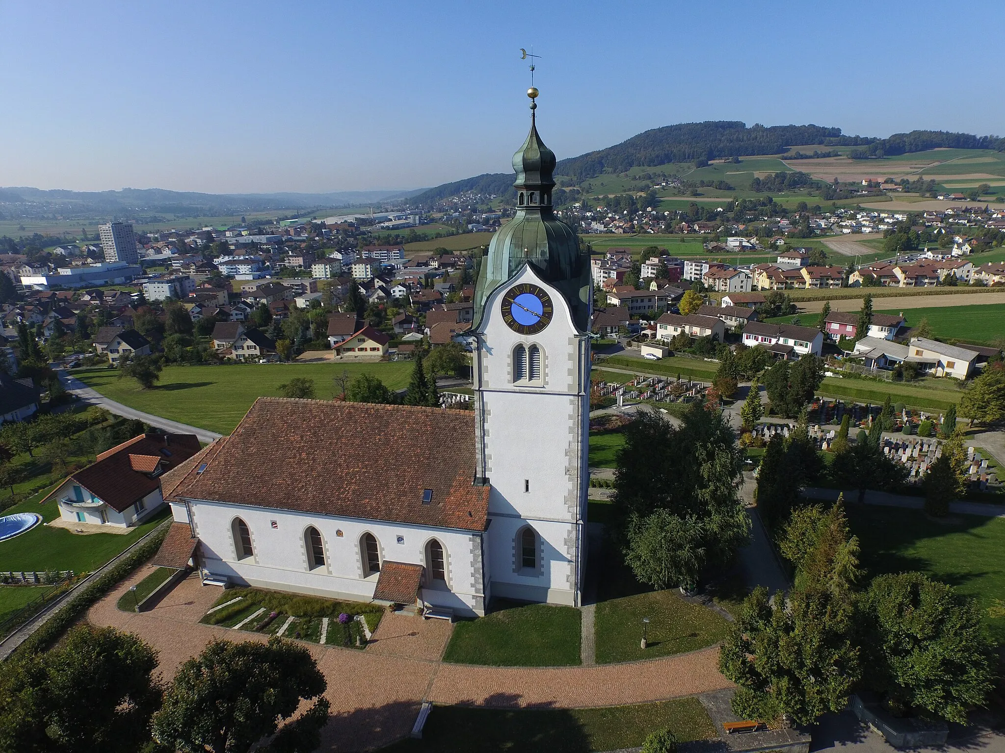
POLYGON ((921 572, 873 578, 861 599, 863 681, 894 708, 967 723, 994 662, 974 602, 921 572))

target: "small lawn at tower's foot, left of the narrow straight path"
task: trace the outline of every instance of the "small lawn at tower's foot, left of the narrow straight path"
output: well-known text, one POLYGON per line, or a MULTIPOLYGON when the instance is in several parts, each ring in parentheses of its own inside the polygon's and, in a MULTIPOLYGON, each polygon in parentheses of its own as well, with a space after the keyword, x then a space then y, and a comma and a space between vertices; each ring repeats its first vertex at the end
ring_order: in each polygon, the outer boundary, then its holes
POLYGON ((444 662, 494 667, 562 667, 580 663, 580 611, 573 606, 493 599, 494 611, 459 621, 444 662))

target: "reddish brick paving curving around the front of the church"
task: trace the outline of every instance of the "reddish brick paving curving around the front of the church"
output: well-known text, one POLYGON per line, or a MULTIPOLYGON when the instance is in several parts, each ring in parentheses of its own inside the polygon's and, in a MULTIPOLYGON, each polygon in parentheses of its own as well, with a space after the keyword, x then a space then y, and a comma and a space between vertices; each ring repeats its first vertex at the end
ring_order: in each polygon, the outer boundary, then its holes
MULTIPOLYGON (((170 680, 178 667, 213 639, 265 641, 198 620, 220 596, 193 574, 149 611, 120 611, 116 602, 150 573, 137 570, 95 603, 87 618, 135 633, 158 652, 170 680)), ((332 719, 321 750, 341 753, 380 748, 408 734, 423 699, 443 704, 500 707, 614 706, 688 696, 731 687, 717 671, 718 649, 596 667, 500 668, 441 664, 452 625, 444 620, 388 614, 365 651, 307 645, 328 678, 332 719), (411 635, 416 634, 416 635, 411 635)))

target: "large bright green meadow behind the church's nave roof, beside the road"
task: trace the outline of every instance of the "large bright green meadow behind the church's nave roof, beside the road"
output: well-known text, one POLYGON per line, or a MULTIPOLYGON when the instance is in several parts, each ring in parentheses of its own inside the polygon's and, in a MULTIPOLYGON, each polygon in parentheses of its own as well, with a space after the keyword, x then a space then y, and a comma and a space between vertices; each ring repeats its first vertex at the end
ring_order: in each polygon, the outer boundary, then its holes
POLYGON ((320 400, 331 400, 333 379, 343 371, 352 376, 372 373, 392 390, 408 385, 412 363, 246 363, 218 366, 167 366, 153 390, 142 390, 135 380, 119 379, 116 369, 88 368, 73 375, 106 398, 138 411, 183 424, 229 434, 259 397, 278 397, 279 385, 294 376, 314 380, 320 400))

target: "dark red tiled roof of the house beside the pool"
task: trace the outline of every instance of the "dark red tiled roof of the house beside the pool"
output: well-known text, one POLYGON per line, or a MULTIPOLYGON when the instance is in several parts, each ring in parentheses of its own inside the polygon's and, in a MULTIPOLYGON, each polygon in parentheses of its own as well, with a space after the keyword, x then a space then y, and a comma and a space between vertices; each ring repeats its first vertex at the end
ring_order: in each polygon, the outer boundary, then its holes
MULTIPOLYGON (((193 434, 141 434, 97 456, 86 468, 70 475, 109 507, 123 512, 138 499, 155 491, 161 483, 150 472, 136 470, 135 456, 158 457, 162 469, 174 468, 199 452, 199 440, 193 434)), ((55 494, 61 484, 52 492, 55 494)), ((50 495, 51 496, 51 495, 50 495)))

